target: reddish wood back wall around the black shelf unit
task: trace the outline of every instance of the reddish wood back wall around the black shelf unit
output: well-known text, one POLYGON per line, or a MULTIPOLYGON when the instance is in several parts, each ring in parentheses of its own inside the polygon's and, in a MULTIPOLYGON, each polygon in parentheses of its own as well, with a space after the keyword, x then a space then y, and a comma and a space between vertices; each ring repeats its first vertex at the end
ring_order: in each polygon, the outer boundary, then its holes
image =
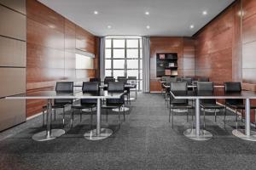
POLYGON ((150 92, 160 92, 156 77, 156 54, 177 53, 177 74, 195 76, 195 45, 190 37, 150 37, 150 92))

